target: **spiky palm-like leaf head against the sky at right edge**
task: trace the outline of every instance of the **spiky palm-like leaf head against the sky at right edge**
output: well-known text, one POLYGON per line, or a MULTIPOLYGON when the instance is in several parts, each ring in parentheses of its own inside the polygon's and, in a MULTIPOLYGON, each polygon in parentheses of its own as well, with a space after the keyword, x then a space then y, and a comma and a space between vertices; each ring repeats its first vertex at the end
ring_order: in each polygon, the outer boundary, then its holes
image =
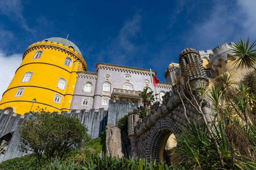
POLYGON ((249 37, 246 42, 242 38, 238 40, 238 43, 235 42, 234 47, 230 50, 232 53, 236 53, 232 55, 233 57, 237 57, 234 65, 238 64, 238 68, 242 69, 252 67, 256 71, 256 49, 254 49, 256 45, 256 41, 253 41, 251 45, 249 45, 249 37))

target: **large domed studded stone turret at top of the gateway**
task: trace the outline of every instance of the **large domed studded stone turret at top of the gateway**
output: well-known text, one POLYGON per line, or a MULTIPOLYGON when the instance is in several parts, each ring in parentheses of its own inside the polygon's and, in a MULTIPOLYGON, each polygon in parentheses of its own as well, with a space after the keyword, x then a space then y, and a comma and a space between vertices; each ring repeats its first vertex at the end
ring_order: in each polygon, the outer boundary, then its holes
POLYGON ((184 76, 184 81, 187 81, 188 76, 189 84, 192 89, 196 89, 202 85, 207 86, 209 84, 202 64, 203 61, 194 48, 185 48, 181 51, 179 63, 181 74, 184 76))

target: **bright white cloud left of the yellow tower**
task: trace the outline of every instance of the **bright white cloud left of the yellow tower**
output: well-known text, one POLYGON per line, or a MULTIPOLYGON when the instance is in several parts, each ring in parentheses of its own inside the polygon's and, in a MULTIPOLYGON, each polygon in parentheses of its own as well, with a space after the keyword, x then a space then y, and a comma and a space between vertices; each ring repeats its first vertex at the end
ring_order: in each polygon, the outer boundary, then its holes
POLYGON ((21 61, 22 54, 6 55, 3 50, 0 49, 0 100, 2 99, 4 91, 11 83, 21 61))

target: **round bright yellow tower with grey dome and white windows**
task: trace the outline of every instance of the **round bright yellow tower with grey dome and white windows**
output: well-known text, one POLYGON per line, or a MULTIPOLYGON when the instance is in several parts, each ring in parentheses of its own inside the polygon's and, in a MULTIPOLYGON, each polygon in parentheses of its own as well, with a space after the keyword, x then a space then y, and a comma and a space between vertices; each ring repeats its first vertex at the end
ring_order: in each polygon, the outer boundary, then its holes
POLYGON ((70 108, 76 71, 87 71, 84 58, 71 41, 52 37, 30 45, 4 92, 0 109, 23 115, 37 106, 49 111, 70 108))

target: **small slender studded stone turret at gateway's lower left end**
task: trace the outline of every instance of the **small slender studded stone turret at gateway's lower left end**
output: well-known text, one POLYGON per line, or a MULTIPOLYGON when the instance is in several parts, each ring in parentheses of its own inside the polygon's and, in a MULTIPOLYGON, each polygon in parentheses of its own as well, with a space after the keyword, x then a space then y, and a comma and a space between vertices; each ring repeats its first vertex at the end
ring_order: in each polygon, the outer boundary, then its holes
POLYGON ((141 122, 140 111, 133 107, 128 113, 128 137, 131 140, 133 157, 136 157, 138 138, 136 135, 137 124, 141 122))

